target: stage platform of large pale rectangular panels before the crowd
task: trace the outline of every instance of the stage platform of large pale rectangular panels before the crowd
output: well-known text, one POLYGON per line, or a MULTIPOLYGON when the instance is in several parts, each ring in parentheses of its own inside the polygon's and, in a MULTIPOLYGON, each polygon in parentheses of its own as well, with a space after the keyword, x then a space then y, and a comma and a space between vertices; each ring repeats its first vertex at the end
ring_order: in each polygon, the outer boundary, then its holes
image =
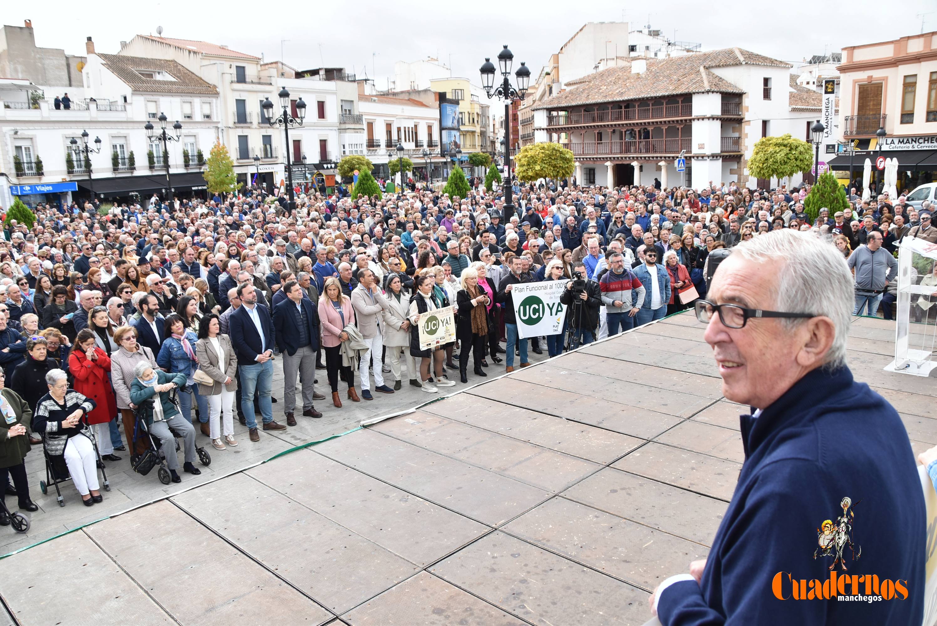
MULTIPOLYGON (((743 461, 703 332, 674 316, 25 549, 3 618, 642 624, 743 461)), ((892 322, 850 335, 915 452, 937 443, 933 380, 883 370, 892 322)))

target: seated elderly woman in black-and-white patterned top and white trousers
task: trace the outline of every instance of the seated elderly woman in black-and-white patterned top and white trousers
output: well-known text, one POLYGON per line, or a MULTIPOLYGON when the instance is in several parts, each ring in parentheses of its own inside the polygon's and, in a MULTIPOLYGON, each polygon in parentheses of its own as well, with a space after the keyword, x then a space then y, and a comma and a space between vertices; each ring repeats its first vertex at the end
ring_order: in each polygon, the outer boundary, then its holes
POLYGON ((46 452, 52 469, 65 475, 67 466, 71 480, 82 494, 85 506, 102 500, 97 483, 97 455, 91 442, 91 429, 82 417, 95 410, 97 404, 73 389, 68 389, 66 373, 51 369, 46 374, 49 393, 39 398, 33 417, 33 430, 44 435, 46 452))

